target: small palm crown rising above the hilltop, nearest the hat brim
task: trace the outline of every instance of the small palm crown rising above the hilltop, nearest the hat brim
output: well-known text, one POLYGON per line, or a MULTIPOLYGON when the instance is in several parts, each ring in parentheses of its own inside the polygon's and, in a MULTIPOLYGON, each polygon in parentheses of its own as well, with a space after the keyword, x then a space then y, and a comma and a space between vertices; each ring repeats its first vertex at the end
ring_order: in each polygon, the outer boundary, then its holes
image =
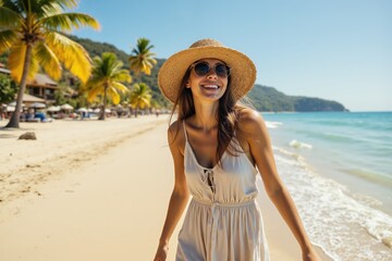
POLYGON ((136 74, 145 73, 150 75, 151 69, 157 64, 157 60, 154 59, 156 54, 150 52, 154 46, 149 45, 149 42, 147 38, 139 38, 137 39, 136 48, 132 49, 128 59, 130 67, 136 74))

